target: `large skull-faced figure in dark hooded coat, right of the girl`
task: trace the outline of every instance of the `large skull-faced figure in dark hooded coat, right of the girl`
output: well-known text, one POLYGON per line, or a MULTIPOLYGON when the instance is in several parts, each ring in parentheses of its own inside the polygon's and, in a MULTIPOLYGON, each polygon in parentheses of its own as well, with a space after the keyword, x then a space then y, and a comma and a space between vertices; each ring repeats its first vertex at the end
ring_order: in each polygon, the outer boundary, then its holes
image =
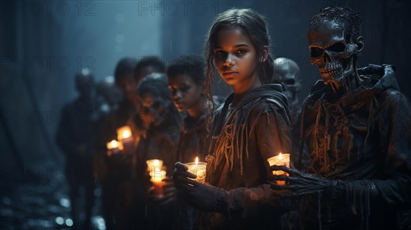
POLYGON ((411 201, 411 107, 393 66, 357 68, 364 47, 360 18, 325 8, 310 21, 310 62, 322 80, 302 109, 309 174, 284 167, 286 186, 301 199, 303 229, 395 229, 411 201))

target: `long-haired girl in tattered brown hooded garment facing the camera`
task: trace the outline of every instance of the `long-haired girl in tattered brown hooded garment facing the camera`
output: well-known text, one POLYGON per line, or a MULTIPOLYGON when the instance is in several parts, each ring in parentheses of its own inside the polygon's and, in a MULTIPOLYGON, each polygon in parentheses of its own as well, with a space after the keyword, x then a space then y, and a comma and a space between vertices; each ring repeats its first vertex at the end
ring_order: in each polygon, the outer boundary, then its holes
POLYGON ((211 98, 215 68, 232 94, 214 113, 206 174, 197 183, 186 166, 175 165, 175 187, 191 205, 210 212, 207 229, 279 227, 279 199, 265 184, 266 159, 290 151, 286 97, 273 74, 266 23, 253 10, 227 10, 216 17, 206 42, 206 88, 211 98), (266 84, 266 85, 264 85, 266 84))

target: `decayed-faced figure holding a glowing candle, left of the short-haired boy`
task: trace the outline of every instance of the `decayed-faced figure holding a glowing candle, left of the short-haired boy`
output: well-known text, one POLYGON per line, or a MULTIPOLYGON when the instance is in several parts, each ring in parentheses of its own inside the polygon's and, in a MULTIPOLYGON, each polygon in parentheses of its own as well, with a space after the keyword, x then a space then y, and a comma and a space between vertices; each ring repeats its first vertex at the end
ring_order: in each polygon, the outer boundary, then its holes
POLYGON ((171 176, 177 161, 175 149, 179 140, 181 117, 173 104, 166 75, 151 73, 143 77, 137 87, 142 105, 142 119, 149 124, 142 136, 135 155, 134 208, 140 223, 138 227, 147 229, 173 229, 176 225, 177 204, 175 188, 169 178, 163 186, 164 196, 147 193, 151 183, 147 180, 147 159, 161 159, 166 175, 171 176))

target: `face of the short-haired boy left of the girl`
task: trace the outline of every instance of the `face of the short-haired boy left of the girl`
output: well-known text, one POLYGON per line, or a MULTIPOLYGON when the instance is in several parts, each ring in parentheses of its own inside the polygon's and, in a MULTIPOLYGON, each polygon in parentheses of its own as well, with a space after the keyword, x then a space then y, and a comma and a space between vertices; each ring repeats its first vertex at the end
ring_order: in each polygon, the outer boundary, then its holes
POLYGON ((179 112, 188 111, 198 105, 203 91, 203 88, 187 75, 169 77, 169 89, 179 112))

